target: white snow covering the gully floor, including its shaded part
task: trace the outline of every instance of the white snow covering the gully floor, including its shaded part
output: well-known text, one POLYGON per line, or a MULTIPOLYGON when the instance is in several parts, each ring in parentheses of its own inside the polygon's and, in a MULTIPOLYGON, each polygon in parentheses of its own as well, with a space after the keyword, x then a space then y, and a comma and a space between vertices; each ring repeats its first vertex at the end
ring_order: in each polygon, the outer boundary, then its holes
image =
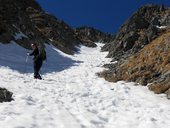
MULTIPOLYGON (((110 61, 101 46, 81 46, 74 56, 47 46, 47 53, 56 56, 48 56, 44 80, 34 80, 32 73, 23 74, 25 50, 16 44, 0 45, 0 86, 15 99, 0 104, 0 128, 169 128, 170 101, 165 95, 97 77, 110 61), (49 62, 55 65, 48 67, 49 62)), ((31 68, 27 64, 27 70, 31 68)))

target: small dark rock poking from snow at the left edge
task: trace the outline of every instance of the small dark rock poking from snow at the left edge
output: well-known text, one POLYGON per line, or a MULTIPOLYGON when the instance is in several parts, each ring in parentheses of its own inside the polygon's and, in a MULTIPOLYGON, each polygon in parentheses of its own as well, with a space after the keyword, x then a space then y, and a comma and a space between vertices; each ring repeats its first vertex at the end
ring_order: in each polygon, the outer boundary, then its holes
POLYGON ((5 88, 0 88, 0 103, 12 101, 12 92, 6 90, 5 88))

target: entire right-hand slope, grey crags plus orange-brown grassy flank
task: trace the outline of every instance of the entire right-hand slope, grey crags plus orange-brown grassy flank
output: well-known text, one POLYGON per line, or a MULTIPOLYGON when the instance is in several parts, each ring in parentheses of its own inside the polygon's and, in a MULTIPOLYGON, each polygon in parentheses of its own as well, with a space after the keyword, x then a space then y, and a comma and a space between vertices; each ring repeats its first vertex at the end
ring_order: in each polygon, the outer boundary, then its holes
MULTIPOLYGON (((111 47, 111 48, 109 48, 111 47)), ((155 93, 170 98, 170 9, 147 5, 140 8, 120 28, 108 57, 118 60, 100 73, 108 81, 132 81, 147 85, 155 93)))

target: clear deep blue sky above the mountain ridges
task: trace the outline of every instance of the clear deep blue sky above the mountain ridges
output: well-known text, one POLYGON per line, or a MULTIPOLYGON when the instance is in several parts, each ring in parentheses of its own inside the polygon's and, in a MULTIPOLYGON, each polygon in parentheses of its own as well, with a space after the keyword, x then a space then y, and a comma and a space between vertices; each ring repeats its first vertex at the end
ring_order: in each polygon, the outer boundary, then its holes
POLYGON ((90 26, 115 33, 139 7, 170 0, 37 0, 42 8, 72 27, 90 26))

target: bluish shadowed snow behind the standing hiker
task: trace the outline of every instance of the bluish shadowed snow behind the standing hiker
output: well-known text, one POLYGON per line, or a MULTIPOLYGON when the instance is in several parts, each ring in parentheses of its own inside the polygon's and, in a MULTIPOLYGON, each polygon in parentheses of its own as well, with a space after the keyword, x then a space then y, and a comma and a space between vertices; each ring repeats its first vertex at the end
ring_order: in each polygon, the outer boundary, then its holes
MULTIPOLYGON (((26 49, 15 43, 0 44, 0 66, 9 67, 20 73, 32 73, 33 60, 31 56, 27 58, 27 52, 26 49)), ((51 45, 46 45, 46 52, 47 61, 43 62, 41 68, 43 74, 59 72, 81 63, 71 59, 70 55, 60 52, 51 45)))

